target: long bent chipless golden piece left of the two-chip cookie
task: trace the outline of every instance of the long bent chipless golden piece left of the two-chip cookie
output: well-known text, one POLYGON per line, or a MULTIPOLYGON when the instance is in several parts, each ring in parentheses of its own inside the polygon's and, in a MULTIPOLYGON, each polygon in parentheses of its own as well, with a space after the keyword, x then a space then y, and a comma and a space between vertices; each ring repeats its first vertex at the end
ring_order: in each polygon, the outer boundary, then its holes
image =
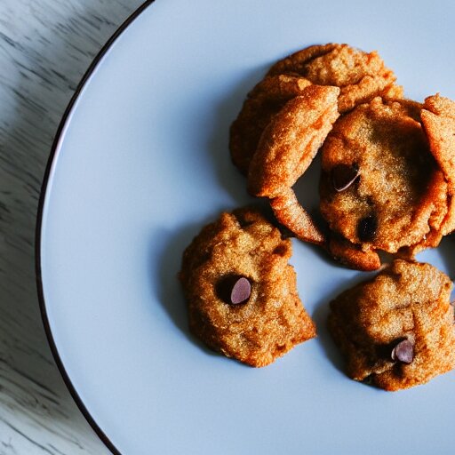
POLYGON ((301 240, 325 238, 301 207, 292 189, 307 170, 339 117, 338 87, 309 85, 288 101, 262 133, 250 164, 248 189, 270 200, 276 219, 301 240))

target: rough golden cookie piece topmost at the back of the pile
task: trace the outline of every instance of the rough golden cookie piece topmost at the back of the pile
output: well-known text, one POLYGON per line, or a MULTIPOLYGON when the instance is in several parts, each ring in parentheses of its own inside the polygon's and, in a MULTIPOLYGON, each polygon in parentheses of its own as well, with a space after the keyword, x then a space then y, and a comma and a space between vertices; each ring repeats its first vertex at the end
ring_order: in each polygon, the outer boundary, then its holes
POLYGON ((339 112, 344 113, 381 95, 403 98, 403 88, 395 85, 395 74, 378 52, 363 52, 347 44, 307 47, 278 61, 267 76, 298 74, 312 84, 340 88, 339 112))

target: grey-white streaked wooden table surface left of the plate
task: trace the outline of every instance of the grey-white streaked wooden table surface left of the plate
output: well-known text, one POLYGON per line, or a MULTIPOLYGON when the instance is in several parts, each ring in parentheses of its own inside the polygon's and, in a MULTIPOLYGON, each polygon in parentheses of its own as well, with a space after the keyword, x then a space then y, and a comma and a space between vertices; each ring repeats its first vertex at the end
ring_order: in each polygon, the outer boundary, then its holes
POLYGON ((52 359, 35 281, 36 208, 81 76, 141 0, 0 1, 0 454, 105 454, 52 359))

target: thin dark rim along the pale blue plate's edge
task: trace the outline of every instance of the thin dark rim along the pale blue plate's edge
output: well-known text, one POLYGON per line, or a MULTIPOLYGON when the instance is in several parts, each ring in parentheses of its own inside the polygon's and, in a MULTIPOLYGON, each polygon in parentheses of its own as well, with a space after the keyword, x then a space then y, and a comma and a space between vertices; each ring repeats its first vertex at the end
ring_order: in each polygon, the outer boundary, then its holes
POLYGON ((140 7, 132 12, 126 20, 122 23, 122 25, 116 29, 114 34, 110 36, 106 44, 103 45, 101 48, 100 52, 96 55, 96 57, 92 60, 92 63, 90 67, 85 71, 84 76, 82 77, 81 81, 79 84, 77 84, 76 91, 74 92, 73 96, 71 97, 71 100, 69 100, 68 106, 65 109, 65 112, 63 113, 63 116, 61 117, 59 127, 57 129, 57 132, 55 133, 53 142, 52 142, 52 148, 51 148, 51 153, 48 158, 46 168, 44 171, 44 178, 43 178, 43 184, 41 186, 41 191, 39 195, 39 201, 38 201, 38 209, 36 213, 36 230, 35 230, 35 269, 36 269, 36 288, 37 288, 37 293, 38 293, 38 301, 39 301, 39 307, 40 307, 40 312, 41 312, 41 318, 43 321, 44 325, 44 331, 46 333, 46 337, 49 343, 49 346, 51 347, 52 355, 55 360, 55 363, 57 363, 57 367, 59 368, 61 377, 63 378, 63 381, 65 382, 65 385, 68 387, 69 393, 73 397, 74 401, 76 402, 77 407, 79 410, 82 412, 84 415, 84 418, 87 420, 87 422, 90 424, 92 427, 93 431, 100 437, 100 440, 108 447, 108 450, 111 451, 114 455, 122 455, 120 451, 116 448, 116 446, 110 441, 108 436, 101 430, 101 428, 97 425, 95 420, 92 418, 90 415, 89 411, 85 407, 81 397, 77 394, 76 388, 73 386, 71 379, 69 379, 68 373, 65 370, 65 366, 63 365, 63 362, 60 359, 59 351, 55 345, 55 341, 52 337, 52 331, 51 331, 51 325, 49 323, 49 319, 47 317, 47 311, 46 311, 46 306, 44 302, 44 289, 43 289, 43 281, 42 281, 42 274, 41 274, 41 229, 43 225, 43 210, 44 210, 44 199, 46 196, 47 192, 47 187, 49 183, 49 177, 51 174, 51 169, 52 169, 52 164, 54 162, 55 154, 60 142, 60 137, 61 133, 63 132, 67 121, 68 121, 68 116, 70 115, 76 100, 79 98, 79 95, 81 91, 84 88, 84 85, 86 84, 87 80, 92 76, 94 70, 98 67, 98 64, 100 63, 100 60, 104 57, 106 52, 110 49, 112 44, 116 42, 116 39, 122 35, 124 30, 128 28, 133 20, 137 19, 138 16, 142 12, 144 12, 148 6, 154 3, 155 0, 146 0, 143 4, 140 5, 140 7))

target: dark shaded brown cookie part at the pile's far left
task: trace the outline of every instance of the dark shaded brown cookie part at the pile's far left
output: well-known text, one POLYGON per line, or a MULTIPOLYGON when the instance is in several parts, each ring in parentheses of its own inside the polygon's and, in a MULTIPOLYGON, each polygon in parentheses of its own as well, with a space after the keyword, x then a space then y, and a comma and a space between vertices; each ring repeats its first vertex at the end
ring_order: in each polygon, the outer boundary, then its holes
POLYGON ((260 135, 272 117, 310 84, 300 76, 277 75, 267 77, 248 93, 229 135, 231 158, 240 172, 248 173, 260 135))

